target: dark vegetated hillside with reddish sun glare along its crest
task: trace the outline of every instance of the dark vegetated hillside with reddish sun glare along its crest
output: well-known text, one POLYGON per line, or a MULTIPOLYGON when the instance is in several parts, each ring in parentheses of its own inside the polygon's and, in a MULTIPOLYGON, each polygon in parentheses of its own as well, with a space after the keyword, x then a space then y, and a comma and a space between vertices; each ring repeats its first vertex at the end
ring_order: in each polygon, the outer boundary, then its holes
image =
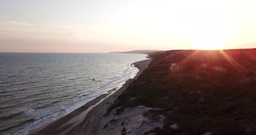
POLYGON ((151 57, 105 116, 146 106, 158 109, 144 117, 162 125, 144 135, 256 134, 256 49, 173 50, 151 57))

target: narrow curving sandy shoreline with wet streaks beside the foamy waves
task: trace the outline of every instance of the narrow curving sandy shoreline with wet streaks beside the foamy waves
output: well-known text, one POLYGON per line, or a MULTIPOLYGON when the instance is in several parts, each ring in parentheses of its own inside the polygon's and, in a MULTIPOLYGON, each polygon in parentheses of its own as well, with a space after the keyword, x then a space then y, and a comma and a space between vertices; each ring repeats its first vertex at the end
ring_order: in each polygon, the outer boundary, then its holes
POLYGON ((152 59, 147 59, 143 61, 137 61, 132 63, 136 68, 138 68, 138 73, 132 79, 127 80, 121 88, 116 90, 116 88, 109 90, 106 93, 103 93, 97 96, 95 99, 85 103, 85 105, 75 109, 73 112, 69 113, 66 116, 63 116, 59 119, 56 119, 52 122, 46 123, 41 127, 34 129, 28 132, 28 135, 66 135, 66 134, 75 134, 79 132, 80 126, 84 125, 83 123, 90 121, 90 118, 98 113, 98 109, 105 109, 106 105, 109 105, 115 101, 115 99, 131 84, 132 81, 136 80, 141 72, 148 67, 148 64, 152 59))

